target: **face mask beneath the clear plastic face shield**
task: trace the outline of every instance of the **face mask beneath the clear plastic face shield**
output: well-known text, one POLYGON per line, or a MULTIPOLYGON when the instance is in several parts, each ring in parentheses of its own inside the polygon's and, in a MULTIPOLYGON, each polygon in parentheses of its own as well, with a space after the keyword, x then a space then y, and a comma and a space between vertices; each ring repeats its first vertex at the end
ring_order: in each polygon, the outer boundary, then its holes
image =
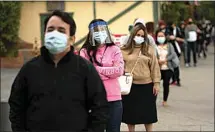
POLYGON ((108 35, 106 31, 99 31, 99 32, 94 32, 93 37, 97 43, 105 44, 105 40, 107 39, 108 35))

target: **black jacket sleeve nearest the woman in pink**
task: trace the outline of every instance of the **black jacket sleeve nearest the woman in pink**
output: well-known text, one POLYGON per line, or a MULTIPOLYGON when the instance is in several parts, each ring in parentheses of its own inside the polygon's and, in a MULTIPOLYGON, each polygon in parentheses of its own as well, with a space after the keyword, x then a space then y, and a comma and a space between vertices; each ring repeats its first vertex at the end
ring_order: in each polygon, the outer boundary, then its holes
POLYGON ((92 64, 86 78, 87 102, 91 110, 88 122, 89 132, 102 132, 108 119, 108 102, 102 80, 92 64))

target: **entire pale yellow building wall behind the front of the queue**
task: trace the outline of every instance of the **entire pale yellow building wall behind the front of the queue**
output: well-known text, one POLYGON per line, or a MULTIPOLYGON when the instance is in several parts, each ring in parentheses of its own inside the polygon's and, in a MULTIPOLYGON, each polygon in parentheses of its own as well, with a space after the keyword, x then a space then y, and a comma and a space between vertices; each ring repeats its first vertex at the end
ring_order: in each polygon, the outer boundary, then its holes
MULTIPOLYGON (((96 2, 96 16, 106 21, 132 5, 134 2, 96 2)), ((88 33, 88 24, 93 19, 92 2, 65 2, 65 11, 74 12, 77 24, 76 41, 88 33)), ((23 2, 21 11, 21 25, 19 36, 27 41, 34 42, 35 37, 40 42, 40 13, 46 13, 46 2, 23 2)), ((152 2, 143 2, 129 13, 109 25, 114 34, 128 33, 128 25, 132 24, 137 17, 145 21, 153 21, 152 2)))

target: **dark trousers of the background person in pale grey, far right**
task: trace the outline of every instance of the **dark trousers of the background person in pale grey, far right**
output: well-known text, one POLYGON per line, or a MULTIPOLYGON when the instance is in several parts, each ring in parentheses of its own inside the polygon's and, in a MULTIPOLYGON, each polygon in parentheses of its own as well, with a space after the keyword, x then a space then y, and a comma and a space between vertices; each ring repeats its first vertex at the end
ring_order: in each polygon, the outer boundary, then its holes
POLYGON ((193 53, 193 62, 194 64, 197 63, 197 59, 196 59, 196 42, 188 42, 187 45, 187 63, 190 63, 190 58, 191 58, 191 51, 193 53))

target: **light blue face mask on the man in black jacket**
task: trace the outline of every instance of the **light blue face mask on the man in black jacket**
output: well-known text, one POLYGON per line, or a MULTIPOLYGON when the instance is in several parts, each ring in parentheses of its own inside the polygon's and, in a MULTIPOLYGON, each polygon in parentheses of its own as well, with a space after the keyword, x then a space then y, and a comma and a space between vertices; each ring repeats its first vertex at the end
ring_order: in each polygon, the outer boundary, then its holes
POLYGON ((58 54, 65 51, 68 47, 67 41, 67 35, 56 30, 45 34, 45 47, 51 54, 58 54))

